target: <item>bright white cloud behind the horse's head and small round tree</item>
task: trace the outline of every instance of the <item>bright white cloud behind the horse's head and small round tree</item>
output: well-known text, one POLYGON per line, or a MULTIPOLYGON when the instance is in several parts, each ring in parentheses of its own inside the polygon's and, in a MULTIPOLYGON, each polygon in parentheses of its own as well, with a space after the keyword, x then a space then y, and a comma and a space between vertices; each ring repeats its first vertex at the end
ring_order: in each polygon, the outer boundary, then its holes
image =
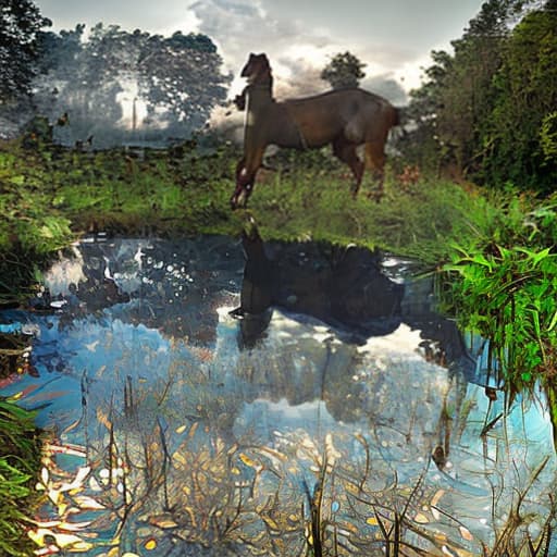
POLYGON ((269 57, 274 95, 281 99, 325 90, 329 85, 320 78, 321 70, 335 53, 346 50, 367 64, 368 84, 377 84, 385 77, 389 86, 383 87, 383 92, 394 91, 397 98, 393 100, 401 98, 395 82, 403 86, 404 83, 392 69, 408 57, 404 49, 385 46, 362 49, 357 45, 338 42, 324 27, 308 29, 300 21, 270 16, 261 0, 200 0, 190 4, 188 10, 197 22, 198 30, 218 45, 225 70, 234 75, 231 98, 245 85, 239 72, 250 52, 265 52, 269 57))

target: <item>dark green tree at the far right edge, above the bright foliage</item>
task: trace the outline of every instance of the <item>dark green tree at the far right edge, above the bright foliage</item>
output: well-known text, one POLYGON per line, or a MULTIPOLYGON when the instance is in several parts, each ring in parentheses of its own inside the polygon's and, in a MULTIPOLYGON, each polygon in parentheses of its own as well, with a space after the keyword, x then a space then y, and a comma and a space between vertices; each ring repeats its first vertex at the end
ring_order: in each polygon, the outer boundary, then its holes
POLYGON ((495 99, 481 137, 485 177, 554 189, 557 160, 547 157, 547 147, 557 107, 555 9, 532 11, 515 27, 493 83, 495 99))

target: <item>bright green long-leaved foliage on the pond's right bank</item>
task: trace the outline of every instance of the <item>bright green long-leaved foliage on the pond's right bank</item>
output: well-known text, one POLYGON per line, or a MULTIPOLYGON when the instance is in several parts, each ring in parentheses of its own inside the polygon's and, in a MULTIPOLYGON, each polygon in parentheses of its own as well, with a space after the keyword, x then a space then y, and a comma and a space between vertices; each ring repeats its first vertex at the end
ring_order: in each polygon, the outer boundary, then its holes
POLYGON ((490 341, 510 403, 536 385, 557 387, 557 202, 515 197, 488 213, 455 245, 445 299, 462 326, 490 341))

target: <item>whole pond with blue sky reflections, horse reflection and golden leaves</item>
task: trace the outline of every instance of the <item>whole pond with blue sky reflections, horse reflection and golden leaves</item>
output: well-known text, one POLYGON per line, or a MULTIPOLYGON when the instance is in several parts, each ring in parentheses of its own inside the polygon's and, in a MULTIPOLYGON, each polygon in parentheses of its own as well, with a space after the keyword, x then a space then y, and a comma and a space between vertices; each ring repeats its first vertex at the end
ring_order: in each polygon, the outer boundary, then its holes
POLYGON ((435 314, 411 261, 257 234, 73 250, 33 311, 0 315, 33 335, 37 372, 0 394, 50 432, 37 555, 546 543, 545 403, 502 417, 484 344, 435 314))

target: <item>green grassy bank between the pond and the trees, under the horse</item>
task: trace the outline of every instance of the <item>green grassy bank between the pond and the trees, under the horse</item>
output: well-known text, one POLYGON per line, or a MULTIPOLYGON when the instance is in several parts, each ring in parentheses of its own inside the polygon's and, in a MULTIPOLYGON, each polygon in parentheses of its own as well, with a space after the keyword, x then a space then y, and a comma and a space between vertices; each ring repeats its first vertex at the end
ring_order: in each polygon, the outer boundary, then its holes
MULTIPOLYGON (((228 199, 239 157, 209 139, 101 152, 0 145, 0 301, 21 294, 83 233, 237 235, 246 211, 231 211, 228 199)), ((327 152, 290 151, 269 163, 249 205, 268 239, 356 242, 435 263, 475 211, 475 198, 459 186, 405 182, 394 170, 381 203, 368 197, 373 186, 366 181, 355 200, 346 168, 327 152)))

